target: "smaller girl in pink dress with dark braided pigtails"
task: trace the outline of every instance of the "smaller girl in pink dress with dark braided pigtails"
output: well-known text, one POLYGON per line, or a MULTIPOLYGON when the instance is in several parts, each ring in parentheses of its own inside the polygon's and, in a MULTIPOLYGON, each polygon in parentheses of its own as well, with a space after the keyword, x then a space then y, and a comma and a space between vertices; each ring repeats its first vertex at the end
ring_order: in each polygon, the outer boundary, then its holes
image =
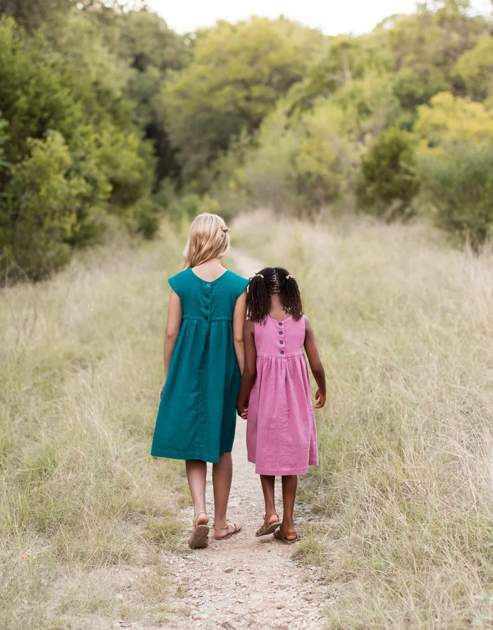
POLYGON ((243 328, 245 369, 238 413, 247 418, 248 461, 260 474, 265 517, 257 536, 296 542, 293 524, 298 475, 318 464, 317 432, 303 348, 318 385, 316 409, 325 404, 325 374, 296 280, 267 267, 250 281, 243 328), (282 476, 284 515, 275 511, 275 475, 282 476), (280 527, 279 531, 277 528, 280 527))

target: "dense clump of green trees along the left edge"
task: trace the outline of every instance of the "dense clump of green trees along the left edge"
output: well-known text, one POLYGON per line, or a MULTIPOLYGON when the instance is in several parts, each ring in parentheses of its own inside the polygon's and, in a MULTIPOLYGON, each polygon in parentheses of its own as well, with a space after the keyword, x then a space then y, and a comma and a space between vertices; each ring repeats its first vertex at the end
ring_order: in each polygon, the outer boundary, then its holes
POLYGON ((0 248, 32 278, 94 241, 108 212, 145 236, 157 229, 153 147, 126 95, 133 71, 77 9, 56 32, 0 20, 0 157, 11 166, 0 164, 0 248))

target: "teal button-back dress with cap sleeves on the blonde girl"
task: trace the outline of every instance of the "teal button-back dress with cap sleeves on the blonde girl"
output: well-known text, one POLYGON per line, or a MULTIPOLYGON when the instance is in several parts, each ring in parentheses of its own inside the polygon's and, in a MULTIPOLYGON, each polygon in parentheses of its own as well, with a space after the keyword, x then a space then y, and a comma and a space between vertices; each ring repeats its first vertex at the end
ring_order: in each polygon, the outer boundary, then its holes
POLYGON ((233 448, 240 369, 233 312, 248 280, 226 271, 213 282, 187 269, 169 279, 182 325, 157 414, 151 455, 217 462, 233 448))

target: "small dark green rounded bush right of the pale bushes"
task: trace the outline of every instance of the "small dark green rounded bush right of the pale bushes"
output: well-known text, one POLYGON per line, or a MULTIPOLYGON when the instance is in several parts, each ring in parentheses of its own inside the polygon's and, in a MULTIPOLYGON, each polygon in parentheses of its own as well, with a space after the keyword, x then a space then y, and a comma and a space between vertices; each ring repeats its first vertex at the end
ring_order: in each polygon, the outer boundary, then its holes
POLYGON ((413 136, 398 127, 383 131, 363 160, 358 204, 392 221, 408 217, 418 193, 413 136))

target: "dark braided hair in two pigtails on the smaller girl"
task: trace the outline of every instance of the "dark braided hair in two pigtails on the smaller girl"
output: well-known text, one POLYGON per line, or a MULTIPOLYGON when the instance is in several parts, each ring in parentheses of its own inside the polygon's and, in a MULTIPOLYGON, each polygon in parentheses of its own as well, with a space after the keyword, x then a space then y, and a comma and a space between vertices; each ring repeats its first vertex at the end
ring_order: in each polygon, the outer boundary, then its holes
POLYGON ((282 267, 265 267, 255 273, 248 285, 247 317, 256 322, 264 321, 270 311, 270 296, 281 295, 285 311, 294 321, 303 316, 303 304, 298 283, 282 267))

